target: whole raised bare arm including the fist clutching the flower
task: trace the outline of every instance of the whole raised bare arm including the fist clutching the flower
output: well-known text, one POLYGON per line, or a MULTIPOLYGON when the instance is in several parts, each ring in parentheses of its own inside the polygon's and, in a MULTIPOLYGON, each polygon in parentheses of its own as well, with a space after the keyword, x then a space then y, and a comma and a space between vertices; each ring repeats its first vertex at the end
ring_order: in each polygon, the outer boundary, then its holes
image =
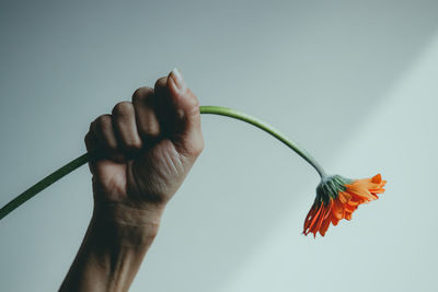
POLYGON ((128 291, 168 201, 204 148, 198 101, 173 70, 102 115, 85 137, 94 211, 59 291, 128 291))

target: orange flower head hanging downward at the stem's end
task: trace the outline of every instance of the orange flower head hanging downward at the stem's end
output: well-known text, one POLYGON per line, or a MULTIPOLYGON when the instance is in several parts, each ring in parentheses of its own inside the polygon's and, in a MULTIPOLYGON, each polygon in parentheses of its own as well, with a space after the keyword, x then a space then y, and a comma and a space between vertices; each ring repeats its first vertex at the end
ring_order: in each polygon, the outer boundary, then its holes
POLYGON ((316 198, 304 220, 303 234, 320 232, 322 236, 330 223, 337 225, 339 220, 351 220, 353 212, 361 203, 379 198, 384 191, 387 180, 380 174, 371 178, 348 179, 341 175, 324 177, 316 188, 316 198))

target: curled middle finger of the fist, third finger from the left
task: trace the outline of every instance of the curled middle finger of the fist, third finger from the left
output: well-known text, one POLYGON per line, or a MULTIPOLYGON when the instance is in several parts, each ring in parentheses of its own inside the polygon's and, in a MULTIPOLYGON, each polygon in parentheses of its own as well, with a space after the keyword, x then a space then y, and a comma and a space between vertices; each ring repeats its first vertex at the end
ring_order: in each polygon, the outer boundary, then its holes
POLYGON ((154 109, 154 91, 151 87, 140 87, 132 94, 137 130, 143 142, 153 142, 160 136, 160 122, 154 109))

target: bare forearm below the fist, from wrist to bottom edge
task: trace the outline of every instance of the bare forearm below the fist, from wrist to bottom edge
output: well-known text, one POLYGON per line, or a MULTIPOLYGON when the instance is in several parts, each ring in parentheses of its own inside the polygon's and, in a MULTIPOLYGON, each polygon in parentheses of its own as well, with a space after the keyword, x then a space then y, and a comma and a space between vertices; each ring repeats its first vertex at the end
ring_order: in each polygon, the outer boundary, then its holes
POLYGON ((128 291, 152 244, 161 211, 95 210, 59 291, 128 291))

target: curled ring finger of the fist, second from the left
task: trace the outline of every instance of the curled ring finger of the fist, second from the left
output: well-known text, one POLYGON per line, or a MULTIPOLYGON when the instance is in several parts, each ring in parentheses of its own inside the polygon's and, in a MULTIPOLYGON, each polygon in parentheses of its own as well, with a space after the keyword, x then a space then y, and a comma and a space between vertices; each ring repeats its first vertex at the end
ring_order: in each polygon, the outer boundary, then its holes
POLYGON ((137 131, 136 114, 130 102, 122 102, 113 108, 113 127, 119 145, 128 156, 135 155, 142 148, 137 131))

